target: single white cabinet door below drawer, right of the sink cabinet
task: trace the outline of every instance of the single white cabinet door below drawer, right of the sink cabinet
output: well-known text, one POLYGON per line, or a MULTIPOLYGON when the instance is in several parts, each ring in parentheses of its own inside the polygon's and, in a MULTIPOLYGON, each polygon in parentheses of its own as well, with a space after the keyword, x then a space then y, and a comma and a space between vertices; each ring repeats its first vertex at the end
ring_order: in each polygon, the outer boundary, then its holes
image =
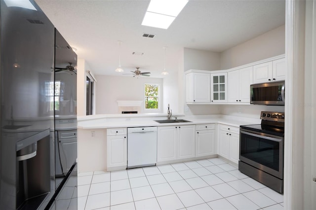
POLYGON ((215 130, 197 131, 196 157, 215 154, 215 130))

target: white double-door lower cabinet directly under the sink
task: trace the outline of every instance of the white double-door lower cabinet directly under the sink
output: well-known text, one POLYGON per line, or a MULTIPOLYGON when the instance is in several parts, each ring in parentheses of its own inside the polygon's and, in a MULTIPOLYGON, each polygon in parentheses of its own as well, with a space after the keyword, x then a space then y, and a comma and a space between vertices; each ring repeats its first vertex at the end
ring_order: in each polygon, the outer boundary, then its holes
POLYGON ((195 125, 159 126, 157 162, 195 157, 195 125))

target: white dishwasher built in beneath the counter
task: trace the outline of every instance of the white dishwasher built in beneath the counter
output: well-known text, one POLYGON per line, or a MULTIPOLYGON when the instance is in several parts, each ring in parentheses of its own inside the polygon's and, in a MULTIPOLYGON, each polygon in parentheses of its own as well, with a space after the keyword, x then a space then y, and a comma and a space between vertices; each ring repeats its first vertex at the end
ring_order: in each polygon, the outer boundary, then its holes
POLYGON ((155 166, 157 127, 127 128, 127 169, 155 166))

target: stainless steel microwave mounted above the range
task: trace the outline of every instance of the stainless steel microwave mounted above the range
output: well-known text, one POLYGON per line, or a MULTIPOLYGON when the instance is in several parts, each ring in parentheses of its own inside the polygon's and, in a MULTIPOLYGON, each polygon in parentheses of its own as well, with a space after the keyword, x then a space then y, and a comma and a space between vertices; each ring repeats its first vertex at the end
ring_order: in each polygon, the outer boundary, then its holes
POLYGON ((250 85, 250 104, 284 105, 285 81, 250 85))

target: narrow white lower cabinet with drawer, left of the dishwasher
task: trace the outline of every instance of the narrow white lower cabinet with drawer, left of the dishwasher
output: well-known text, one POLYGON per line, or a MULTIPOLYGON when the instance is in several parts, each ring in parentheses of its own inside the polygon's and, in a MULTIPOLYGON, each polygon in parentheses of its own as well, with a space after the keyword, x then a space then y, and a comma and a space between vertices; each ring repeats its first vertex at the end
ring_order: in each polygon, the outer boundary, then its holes
POLYGON ((127 167, 127 128, 107 129, 107 168, 127 167))

